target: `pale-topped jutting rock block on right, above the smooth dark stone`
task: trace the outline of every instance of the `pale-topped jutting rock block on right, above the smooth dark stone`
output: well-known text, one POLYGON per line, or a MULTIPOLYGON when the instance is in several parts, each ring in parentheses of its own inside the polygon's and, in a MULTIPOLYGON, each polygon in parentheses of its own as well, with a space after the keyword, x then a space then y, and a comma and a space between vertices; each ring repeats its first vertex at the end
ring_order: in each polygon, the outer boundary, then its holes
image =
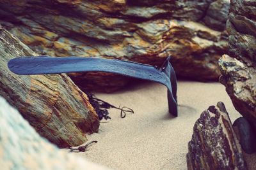
MULTIPOLYGON (((252 63, 252 62, 251 62, 252 63)), ((256 69, 243 60, 223 55, 220 81, 239 113, 256 127, 256 69)))

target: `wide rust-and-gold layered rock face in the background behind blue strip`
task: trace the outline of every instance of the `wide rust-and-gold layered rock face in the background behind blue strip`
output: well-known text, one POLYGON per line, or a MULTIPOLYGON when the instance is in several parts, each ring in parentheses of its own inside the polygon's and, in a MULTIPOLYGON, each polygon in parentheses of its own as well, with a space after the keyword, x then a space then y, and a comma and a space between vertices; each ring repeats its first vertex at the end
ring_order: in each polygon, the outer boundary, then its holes
MULTIPOLYGON (((40 54, 158 65, 168 50, 178 76, 217 80, 218 59, 227 50, 228 0, 1 0, 0 5, 0 23, 40 54)), ((97 75, 70 76, 81 87, 109 91, 128 81, 97 75)))

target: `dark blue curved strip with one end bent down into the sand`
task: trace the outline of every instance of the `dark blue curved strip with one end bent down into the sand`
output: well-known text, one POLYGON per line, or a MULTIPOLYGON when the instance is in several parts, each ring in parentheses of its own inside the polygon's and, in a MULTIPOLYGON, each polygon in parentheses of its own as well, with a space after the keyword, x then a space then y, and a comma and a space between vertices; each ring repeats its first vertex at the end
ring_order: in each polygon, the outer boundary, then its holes
POLYGON ((177 81, 175 71, 166 59, 161 68, 124 60, 100 59, 95 57, 20 57, 8 62, 16 74, 60 74, 71 72, 102 71, 122 74, 133 78, 155 81, 168 89, 169 112, 177 117, 177 81))

